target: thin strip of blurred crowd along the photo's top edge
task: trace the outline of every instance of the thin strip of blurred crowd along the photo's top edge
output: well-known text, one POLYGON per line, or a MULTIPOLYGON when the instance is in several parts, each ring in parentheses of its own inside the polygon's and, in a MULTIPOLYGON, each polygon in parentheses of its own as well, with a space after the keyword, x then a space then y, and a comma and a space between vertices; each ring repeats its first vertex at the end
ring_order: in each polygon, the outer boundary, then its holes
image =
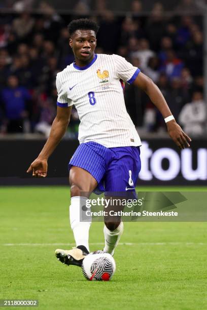
MULTIPOLYGON (((103 10, 111 10, 116 13, 134 11, 136 13, 150 12, 157 0, 145 0, 134 2, 133 0, 1 0, 0 8, 16 11, 37 10, 42 11, 45 5, 50 4, 59 13, 74 11, 78 14, 102 13, 103 10)), ((206 0, 159 0, 163 9, 167 12, 181 14, 196 14, 203 12, 206 0)))

